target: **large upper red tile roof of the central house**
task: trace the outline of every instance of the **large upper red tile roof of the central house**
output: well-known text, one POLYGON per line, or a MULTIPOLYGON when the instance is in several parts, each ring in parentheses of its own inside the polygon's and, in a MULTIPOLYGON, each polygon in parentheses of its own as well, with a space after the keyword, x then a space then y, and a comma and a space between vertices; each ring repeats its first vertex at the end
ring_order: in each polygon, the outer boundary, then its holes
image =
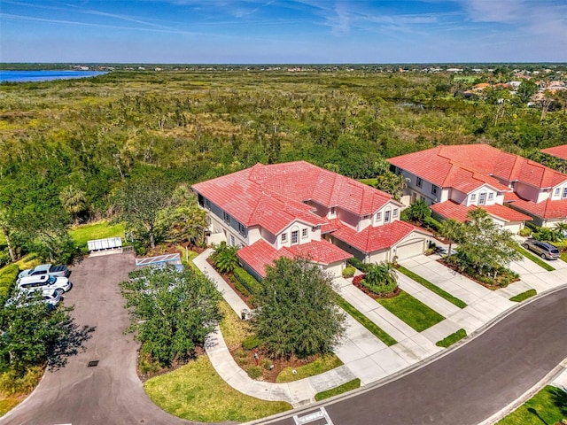
POLYGON ((381 190, 305 161, 256 164, 192 188, 245 226, 260 225, 273 234, 295 219, 313 226, 327 222, 303 201, 366 215, 392 199, 381 190))

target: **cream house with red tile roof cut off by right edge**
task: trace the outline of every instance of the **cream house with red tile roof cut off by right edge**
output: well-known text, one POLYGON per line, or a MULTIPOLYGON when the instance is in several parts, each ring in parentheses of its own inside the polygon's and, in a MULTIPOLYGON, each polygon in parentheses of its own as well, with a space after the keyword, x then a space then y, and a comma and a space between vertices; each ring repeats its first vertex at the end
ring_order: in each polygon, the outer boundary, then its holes
POLYGON ((438 146, 388 161, 408 178, 404 202, 423 199, 439 218, 463 220, 480 207, 517 232, 525 220, 551 227, 567 217, 567 175, 487 144, 438 146))

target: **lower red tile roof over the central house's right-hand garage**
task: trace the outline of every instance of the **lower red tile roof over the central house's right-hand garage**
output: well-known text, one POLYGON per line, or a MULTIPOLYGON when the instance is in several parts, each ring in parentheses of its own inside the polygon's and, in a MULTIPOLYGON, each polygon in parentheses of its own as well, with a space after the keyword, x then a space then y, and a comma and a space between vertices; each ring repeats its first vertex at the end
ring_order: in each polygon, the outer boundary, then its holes
POLYGON ((348 243, 361 252, 375 252, 390 248, 414 230, 423 235, 431 235, 423 228, 418 228, 406 221, 400 220, 392 221, 392 223, 384 224, 377 228, 369 226, 361 232, 357 232, 339 220, 332 220, 331 224, 336 224, 338 227, 338 230, 333 233, 334 237, 344 243, 348 243))

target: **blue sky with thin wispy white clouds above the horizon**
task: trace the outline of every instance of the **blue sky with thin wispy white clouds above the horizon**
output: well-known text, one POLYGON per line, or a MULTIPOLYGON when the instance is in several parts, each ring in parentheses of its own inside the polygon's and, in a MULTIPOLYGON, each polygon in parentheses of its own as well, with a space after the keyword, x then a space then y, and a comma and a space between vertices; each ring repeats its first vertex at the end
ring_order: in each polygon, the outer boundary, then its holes
POLYGON ((567 61, 567 0, 0 0, 1 62, 567 61))

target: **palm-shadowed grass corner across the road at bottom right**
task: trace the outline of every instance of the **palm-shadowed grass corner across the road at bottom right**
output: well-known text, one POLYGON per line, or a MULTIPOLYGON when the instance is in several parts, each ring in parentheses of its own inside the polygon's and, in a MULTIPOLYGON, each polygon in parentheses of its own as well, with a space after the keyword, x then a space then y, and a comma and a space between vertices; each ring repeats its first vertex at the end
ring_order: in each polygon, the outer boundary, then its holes
POLYGON ((548 385, 496 425, 541 425, 565 418, 567 392, 548 385))

